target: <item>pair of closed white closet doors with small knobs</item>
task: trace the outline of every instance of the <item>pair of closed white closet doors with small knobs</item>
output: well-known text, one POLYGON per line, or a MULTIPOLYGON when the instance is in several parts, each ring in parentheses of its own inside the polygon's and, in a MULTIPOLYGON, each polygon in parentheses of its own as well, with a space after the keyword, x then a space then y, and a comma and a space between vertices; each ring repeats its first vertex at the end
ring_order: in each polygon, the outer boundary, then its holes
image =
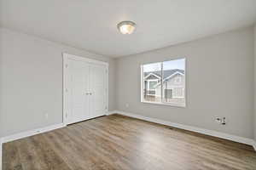
POLYGON ((67 124, 105 115, 107 74, 107 65, 67 59, 67 124))

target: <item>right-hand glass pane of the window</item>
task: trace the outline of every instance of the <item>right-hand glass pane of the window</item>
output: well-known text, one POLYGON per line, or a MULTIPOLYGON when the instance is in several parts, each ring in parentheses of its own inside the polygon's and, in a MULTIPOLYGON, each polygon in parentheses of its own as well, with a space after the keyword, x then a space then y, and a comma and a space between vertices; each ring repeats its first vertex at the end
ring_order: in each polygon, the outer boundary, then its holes
POLYGON ((185 106, 185 59, 163 62, 163 102, 185 106))

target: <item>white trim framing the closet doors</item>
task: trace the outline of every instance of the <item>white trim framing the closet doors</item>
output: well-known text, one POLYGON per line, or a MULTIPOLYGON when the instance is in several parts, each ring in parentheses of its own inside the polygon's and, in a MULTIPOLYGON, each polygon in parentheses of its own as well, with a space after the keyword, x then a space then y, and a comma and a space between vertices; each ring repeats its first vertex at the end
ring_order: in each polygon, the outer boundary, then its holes
POLYGON ((63 57, 63 89, 62 89, 62 123, 63 125, 67 125, 67 116, 68 116, 68 111, 70 111, 69 105, 67 103, 68 101, 68 82, 67 82, 67 62, 68 59, 72 59, 72 60, 76 60, 76 61, 83 61, 83 62, 87 62, 87 63, 91 63, 91 64, 96 64, 96 65, 105 65, 106 66, 106 77, 107 77, 107 81, 106 81, 106 90, 107 90, 107 94, 106 94, 106 115, 108 113, 108 63, 104 62, 104 61, 99 61, 96 59, 88 59, 88 58, 84 58, 84 57, 80 57, 77 55, 73 55, 73 54, 67 54, 67 53, 62 53, 62 57, 63 57))

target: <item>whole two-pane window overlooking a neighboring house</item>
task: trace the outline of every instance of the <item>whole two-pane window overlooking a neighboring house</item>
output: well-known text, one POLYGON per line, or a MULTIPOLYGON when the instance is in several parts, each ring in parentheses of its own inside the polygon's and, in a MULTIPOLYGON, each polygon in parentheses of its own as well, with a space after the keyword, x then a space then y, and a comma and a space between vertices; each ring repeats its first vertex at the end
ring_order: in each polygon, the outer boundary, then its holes
POLYGON ((141 65, 141 101, 185 106, 185 59, 141 65))

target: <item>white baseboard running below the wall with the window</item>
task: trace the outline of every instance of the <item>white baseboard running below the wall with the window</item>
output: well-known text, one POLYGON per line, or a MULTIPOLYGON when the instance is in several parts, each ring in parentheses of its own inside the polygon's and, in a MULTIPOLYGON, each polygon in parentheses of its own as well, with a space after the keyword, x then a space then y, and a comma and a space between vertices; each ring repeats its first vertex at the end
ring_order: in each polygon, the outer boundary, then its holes
POLYGON ((242 144, 253 145, 254 150, 256 150, 256 143, 253 141, 253 139, 247 139, 244 137, 240 137, 240 136, 236 136, 236 135, 232 135, 232 134, 228 134, 228 133, 220 133, 217 131, 212 131, 212 130, 208 130, 208 129, 204 129, 204 128, 200 128, 200 127, 192 127, 192 126, 188 126, 188 125, 179 124, 176 122, 166 122, 166 121, 162 121, 160 119, 146 117, 146 116, 140 116, 140 115, 128 113, 125 111, 114 111, 113 113, 119 113, 121 115, 131 116, 131 117, 134 117, 137 119, 142 119, 142 120, 148 121, 148 122, 156 122, 156 123, 167 125, 170 127, 177 127, 177 128, 189 130, 189 131, 192 131, 195 133, 207 134, 207 135, 218 137, 221 139, 228 139, 228 140, 232 140, 232 141, 239 142, 242 144), (255 144, 253 144, 253 143, 255 143, 255 144))

